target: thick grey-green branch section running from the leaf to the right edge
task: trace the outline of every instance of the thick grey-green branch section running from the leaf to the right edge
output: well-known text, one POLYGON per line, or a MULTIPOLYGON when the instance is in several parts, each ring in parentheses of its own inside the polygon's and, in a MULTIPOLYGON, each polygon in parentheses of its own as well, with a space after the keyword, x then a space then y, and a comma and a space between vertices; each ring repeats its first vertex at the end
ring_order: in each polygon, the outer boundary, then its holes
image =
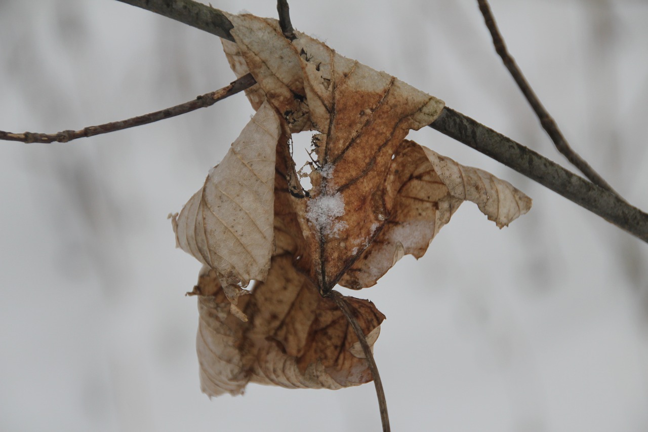
POLYGON ((648 242, 648 214, 618 195, 447 106, 430 127, 490 156, 648 242))

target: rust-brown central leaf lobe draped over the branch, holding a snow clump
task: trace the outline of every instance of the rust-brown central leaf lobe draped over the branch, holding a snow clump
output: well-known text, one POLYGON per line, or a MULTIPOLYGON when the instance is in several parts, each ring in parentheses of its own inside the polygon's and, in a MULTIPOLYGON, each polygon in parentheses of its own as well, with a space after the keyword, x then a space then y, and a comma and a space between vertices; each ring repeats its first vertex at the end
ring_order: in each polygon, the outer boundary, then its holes
POLYGON ((321 132, 310 198, 297 216, 313 259, 310 276, 330 291, 386 217, 378 195, 391 156, 410 129, 434 121, 443 101, 300 32, 291 43, 273 19, 228 18, 237 47, 224 45, 235 73, 250 71, 260 87, 255 95, 264 93, 289 124, 298 119, 292 130, 321 132))

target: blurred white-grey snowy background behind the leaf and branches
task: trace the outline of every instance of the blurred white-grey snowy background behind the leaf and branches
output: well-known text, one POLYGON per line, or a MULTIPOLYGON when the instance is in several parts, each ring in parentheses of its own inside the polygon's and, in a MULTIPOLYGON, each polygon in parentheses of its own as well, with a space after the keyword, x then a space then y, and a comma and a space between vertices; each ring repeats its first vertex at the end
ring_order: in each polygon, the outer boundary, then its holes
MULTIPOLYGON (((273 0, 211 0, 276 16, 273 0)), ((292 1, 295 27, 565 163, 476 1, 292 1)), ((648 209, 648 3, 492 0, 565 136, 648 209)), ((218 38, 113 0, 0 0, 0 129, 145 114, 233 80, 218 38)), ((66 144, 0 143, 1 431, 375 431, 373 385, 200 392, 199 263, 178 211, 252 113, 242 95, 66 144)), ((648 430, 648 246, 486 156, 413 139, 534 199, 498 230, 465 204, 370 298, 395 431, 648 430)), ((345 290, 343 290, 345 291, 345 290)))

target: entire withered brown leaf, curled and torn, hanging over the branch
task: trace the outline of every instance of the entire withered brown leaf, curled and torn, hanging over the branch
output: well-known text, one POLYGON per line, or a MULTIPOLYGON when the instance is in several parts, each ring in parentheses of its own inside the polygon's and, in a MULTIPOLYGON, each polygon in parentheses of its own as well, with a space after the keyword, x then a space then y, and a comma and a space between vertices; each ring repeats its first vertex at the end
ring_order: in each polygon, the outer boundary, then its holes
MULTIPOLYGON (((224 49, 237 77, 257 80, 246 91, 256 114, 172 221, 178 246, 203 263, 192 292, 202 389, 366 383, 371 371, 327 295, 333 287, 370 287, 402 256, 421 257, 464 200, 500 228, 531 200, 405 139, 443 101, 300 32, 288 40, 274 19, 227 18, 236 43, 224 49), (308 130, 318 133, 305 190, 290 138, 308 130)), ((384 315, 345 300, 373 346, 384 315)))

